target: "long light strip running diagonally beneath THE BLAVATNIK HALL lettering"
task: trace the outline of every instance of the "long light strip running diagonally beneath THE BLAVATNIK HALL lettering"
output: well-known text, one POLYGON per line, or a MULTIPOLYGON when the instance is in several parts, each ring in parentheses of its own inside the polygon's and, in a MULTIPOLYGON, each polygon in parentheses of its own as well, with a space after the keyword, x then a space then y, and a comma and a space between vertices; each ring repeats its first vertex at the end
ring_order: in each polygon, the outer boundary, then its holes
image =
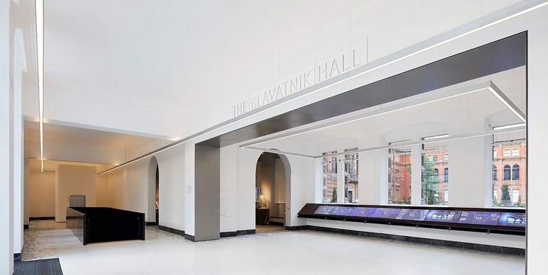
MULTIPOLYGON (((335 86, 335 85, 340 84, 340 83, 342 83, 342 82, 346 82, 346 81, 348 81, 348 80, 352 80, 353 78, 358 77, 358 76, 360 76, 360 75, 364 75, 364 74, 370 73, 370 72, 372 72, 372 71, 377 71, 378 69, 382 69, 382 68, 384 68, 384 67, 387 67, 387 66, 389 66, 389 65, 391 65, 391 64, 394 64, 394 63, 396 63, 396 62, 399 62, 399 61, 401 61, 401 60, 405 60, 405 59, 410 58, 410 57, 412 57, 412 56, 416 56, 416 55, 418 55, 419 53, 423 53, 423 52, 428 51, 428 50, 430 50, 430 49, 433 49, 433 48, 436 48, 436 47, 440 47, 441 45, 444 45, 444 44, 446 44, 446 43, 450 43, 450 42, 453 41, 453 40, 457 40, 457 39, 462 38, 462 37, 464 37, 464 36, 468 36, 468 35, 473 34, 473 33, 475 33, 475 32, 479 32, 479 31, 481 31, 482 29, 486 29, 486 28, 491 27, 491 26, 493 26, 493 25, 497 25, 497 24, 502 23, 502 22, 504 22, 504 21, 508 21, 508 20, 513 19, 513 18, 515 18, 515 17, 517 17, 517 16, 521 16, 521 15, 523 15, 523 14, 526 14, 527 12, 532 12, 533 10, 537 10, 538 8, 542 8, 542 7, 544 7, 545 5, 548 5, 548 2, 547 2, 547 1, 545 1, 545 2, 543 2, 543 3, 540 3, 540 4, 538 4, 538 5, 534 5, 534 6, 532 6, 531 8, 527 8, 527 9, 522 10, 522 11, 520 11, 520 12, 516 12, 516 13, 514 13, 514 14, 510 14, 509 16, 505 16, 505 17, 503 17, 502 19, 493 21, 493 22, 488 23, 488 24, 486 24, 486 25, 482 25, 482 26, 477 27, 476 29, 472 29, 472 30, 470 30, 470 31, 468 31, 468 32, 464 32, 463 34, 460 34, 460 35, 457 35, 457 36, 453 36, 453 37, 448 38, 448 39, 446 39, 446 40, 443 40, 443 41, 441 41, 441 42, 439 42, 439 43, 436 43, 436 44, 434 44, 434 45, 430 45, 429 47, 425 47, 425 48, 419 49, 418 51, 414 51, 413 53, 409 53, 409 54, 407 54, 407 55, 405 55, 405 56, 401 56, 400 58, 396 58, 396 59, 394 59, 394 60, 385 62, 385 63, 383 63, 383 64, 379 64, 377 67, 372 67, 371 69, 368 69, 368 70, 363 71, 363 72, 361 72, 361 73, 357 73, 356 75, 349 76, 349 77, 345 78, 344 80, 339 80, 339 81, 333 82, 333 83, 331 83, 331 84, 329 84, 329 85, 320 87, 320 88, 316 89, 315 91, 311 91, 310 93, 306 93, 306 94, 300 95, 300 96, 298 96, 298 97, 294 97, 294 98, 289 99, 289 100, 287 100, 287 101, 283 101, 283 102, 281 102, 281 103, 279 103, 279 104, 270 106, 270 107, 268 107, 268 108, 264 108, 263 110, 257 110, 257 112, 250 113, 249 115, 243 115, 243 116, 241 117, 241 119, 249 118, 249 117, 254 117, 254 116, 259 115, 259 114, 261 114, 261 113, 263 113, 263 112, 266 112, 267 110, 271 110, 272 108, 276 108, 276 107, 278 107, 278 106, 282 106, 282 105, 287 104, 287 103, 289 103, 289 102, 291 102, 291 101, 295 101, 295 100, 300 99, 300 98, 302 98, 302 97, 305 97, 305 96, 308 96, 308 95, 312 95, 313 93, 318 93, 319 91, 322 91, 322 90, 324 90, 324 89, 326 89, 326 88, 329 88, 329 87, 331 87, 331 86, 335 86)), ((108 173, 108 172, 110 172, 110 171, 114 171, 115 169, 124 167, 124 166, 126 166, 126 165, 130 165, 131 163, 134 163, 134 162, 136 162, 136 161, 142 160, 143 158, 147 158, 148 156, 152 156, 152 155, 158 154, 158 153, 160 153, 160 152, 163 152, 163 151, 165 151, 165 150, 171 149, 171 148, 176 147, 176 146, 178 146, 178 145, 181 145, 182 143, 185 143, 185 142, 187 142, 187 141, 191 141, 191 140, 193 140, 193 139, 198 139, 199 137, 204 136, 204 135, 206 135, 206 134, 210 134, 211 132, 220 130, 220 129, 222 129, 222 128, 226 128, 226 127, 228 127, 229 125, 233 125, 233 124, 236 123, 237 121, 240 121, 241 119, 236 119, 235 121, 231 121, 231 122, 226 123, 226 124, 224 124, 224 125, 222 125, 222 124, 221 124, 221 125, 215 125, 215 126, 213 126, 213 127, 211 127, 211 128, 208 128, 208 129, 206 129, 206 130, 203 130, 202 132, 198 132, 198 133, 196 133, 196 134, 193 134, 193 135, 191 135, 191 136, 188 136, 188 137, 185 138, 185 139, 182 139, 182 140, 180 140, 180 141, 176 141, 175 143, 171 143, 170 145, 167 145, 167 146, 165 146, 165 147, 161 147, 161 148, 158 149, 158 150, 154 150, 154 151, 152 151, 152 152, 149 152, 149 153, 147 153, 147 154, 144 154, 143 156, 139 156, 139 157, 137 157, 137 158, 134 158, 134 159, 132 159, 132 160, 129 160, 129 161, 127 161, 126 163, 122 163, 121 165, 119 165, 119 166, 117 166, 117 167, 113 167, 113 168, 111 168, 111 169, 108 169, 108 170, 106 170, 106 171, 103 171, 102 173, 99 174, 99 176, 100 176, 100 175, 103 175, 103 174, 106 174, 106 173, 108 173)))

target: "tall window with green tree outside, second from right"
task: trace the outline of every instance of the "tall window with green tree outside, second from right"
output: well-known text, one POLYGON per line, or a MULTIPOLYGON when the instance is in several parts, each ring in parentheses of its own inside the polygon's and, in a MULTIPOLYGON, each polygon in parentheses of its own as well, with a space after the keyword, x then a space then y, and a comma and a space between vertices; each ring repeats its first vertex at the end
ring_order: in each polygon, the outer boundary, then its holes
POLYGON ((422 145, 421 193, 422 205, 449 204, 449 144, 427 143, 422 145), (425 156, 432 155, 434 158, 425 156), (443 156, 443 161, 438 161, 443 156), (444 180, 440 178, 444 171, 444 180))

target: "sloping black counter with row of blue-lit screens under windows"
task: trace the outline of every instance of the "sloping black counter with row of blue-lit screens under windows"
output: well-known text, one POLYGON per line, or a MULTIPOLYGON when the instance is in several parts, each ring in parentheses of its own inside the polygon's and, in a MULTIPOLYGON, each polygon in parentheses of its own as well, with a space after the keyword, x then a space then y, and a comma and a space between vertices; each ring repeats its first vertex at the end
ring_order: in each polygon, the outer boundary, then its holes
POLYGON ((359 204, 305 204, 298 217, 508 235, 525 235, 527 222, 525 209, 520 208, 359 204))

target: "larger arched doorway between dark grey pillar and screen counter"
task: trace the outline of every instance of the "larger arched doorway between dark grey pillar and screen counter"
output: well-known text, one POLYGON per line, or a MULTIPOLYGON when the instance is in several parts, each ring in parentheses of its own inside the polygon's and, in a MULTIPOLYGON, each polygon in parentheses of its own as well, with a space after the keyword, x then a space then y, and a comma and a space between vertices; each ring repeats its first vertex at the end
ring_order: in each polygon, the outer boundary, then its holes
POLYGON ((291 167, 287 156, 263 152, 255 170, 257 232, 285 230, 290 187, 291 167))

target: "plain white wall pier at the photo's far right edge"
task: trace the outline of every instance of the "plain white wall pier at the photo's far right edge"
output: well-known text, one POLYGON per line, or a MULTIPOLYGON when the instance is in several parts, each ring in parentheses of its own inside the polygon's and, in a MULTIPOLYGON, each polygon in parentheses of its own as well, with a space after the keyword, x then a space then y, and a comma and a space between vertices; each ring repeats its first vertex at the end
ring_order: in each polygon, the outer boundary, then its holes
POLYGON ((545 237, 548 194, 548 7, 529 16, 532 16, 536 25, 527 33, 527 274, 543 274, 548 270, 548 239, 545 237))

